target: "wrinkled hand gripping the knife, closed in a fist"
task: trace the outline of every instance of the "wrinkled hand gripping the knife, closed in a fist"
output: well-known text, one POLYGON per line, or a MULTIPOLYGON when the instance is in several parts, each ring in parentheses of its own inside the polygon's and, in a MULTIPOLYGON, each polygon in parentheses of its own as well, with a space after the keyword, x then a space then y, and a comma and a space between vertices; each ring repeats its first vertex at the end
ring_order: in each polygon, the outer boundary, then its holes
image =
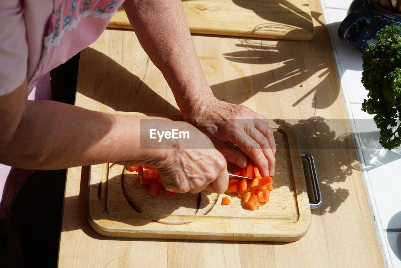
POLYGON ((144 149, 141 160, 119 164, 156 168, 164 187, 171 192, 198 193, 209 188, 222 194, 227 190, 227 161, 204 133, 186 122, 167 119, 149 120, 146 128, 189 131, 190 139, 165 139, 162 143, 141 139, 141 148, 149 148, 144 149))

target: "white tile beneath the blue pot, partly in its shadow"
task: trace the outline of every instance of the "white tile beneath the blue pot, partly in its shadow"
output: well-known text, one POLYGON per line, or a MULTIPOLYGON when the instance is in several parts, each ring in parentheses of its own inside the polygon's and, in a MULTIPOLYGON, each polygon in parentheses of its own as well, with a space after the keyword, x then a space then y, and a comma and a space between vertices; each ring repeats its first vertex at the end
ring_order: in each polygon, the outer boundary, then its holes
POLYGON ((362 52, 353 45, 344 43, 338 37, 340 23, 347 15, 345 9, 326 8, 328 27, 332 32, 334 52, 337 54, 340 65, 340 78, 344 81, 349 102, 362 103, 367 98, 368 91, 360 83, 362 78, 362 52))

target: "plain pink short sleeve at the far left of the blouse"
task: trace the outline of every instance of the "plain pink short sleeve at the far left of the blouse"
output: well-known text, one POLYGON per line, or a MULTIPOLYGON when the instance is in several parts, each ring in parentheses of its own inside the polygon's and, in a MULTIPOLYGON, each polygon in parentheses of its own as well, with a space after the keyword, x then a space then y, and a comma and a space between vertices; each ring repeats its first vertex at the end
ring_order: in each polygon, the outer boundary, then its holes
POLYGON ((28 43, 20 0, 0 1, 0 96, 18 88, 26 78, 28 43))

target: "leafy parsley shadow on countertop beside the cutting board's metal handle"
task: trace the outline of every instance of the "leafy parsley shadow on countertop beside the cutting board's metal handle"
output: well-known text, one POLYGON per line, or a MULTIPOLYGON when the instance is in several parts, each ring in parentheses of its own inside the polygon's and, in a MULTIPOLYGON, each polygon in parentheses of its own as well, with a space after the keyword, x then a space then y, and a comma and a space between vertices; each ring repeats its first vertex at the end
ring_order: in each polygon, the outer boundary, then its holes
MULTIPOLYGON (((353 170, 360 170, 352 133, 336 137, 333 129, 336 128, 338 120, 325 120, 323 117, 274 121, 290 127, 298 138, 300 150, 308 151, 314 156, 322 192, 322 205, 312 210, 312 213, 323 215, 335 212, 349 196, 348 189, 338 186, 338 183, 345 182, 353 170), (327 150, 331 151, 330 158, 327 158, 327 150)), ((309 193, 309 196, 313 194, 309 193)))

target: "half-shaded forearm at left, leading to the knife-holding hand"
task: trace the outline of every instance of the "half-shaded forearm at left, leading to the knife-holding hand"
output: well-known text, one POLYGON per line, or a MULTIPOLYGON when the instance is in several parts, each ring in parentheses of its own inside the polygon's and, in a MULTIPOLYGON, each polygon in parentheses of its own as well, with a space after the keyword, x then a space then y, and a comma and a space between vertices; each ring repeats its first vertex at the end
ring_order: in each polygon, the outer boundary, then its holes
POLYGON ((25 169, 61 169, 149 158, 140 150, 140 118, 28 101, 0 162, 25 169))

